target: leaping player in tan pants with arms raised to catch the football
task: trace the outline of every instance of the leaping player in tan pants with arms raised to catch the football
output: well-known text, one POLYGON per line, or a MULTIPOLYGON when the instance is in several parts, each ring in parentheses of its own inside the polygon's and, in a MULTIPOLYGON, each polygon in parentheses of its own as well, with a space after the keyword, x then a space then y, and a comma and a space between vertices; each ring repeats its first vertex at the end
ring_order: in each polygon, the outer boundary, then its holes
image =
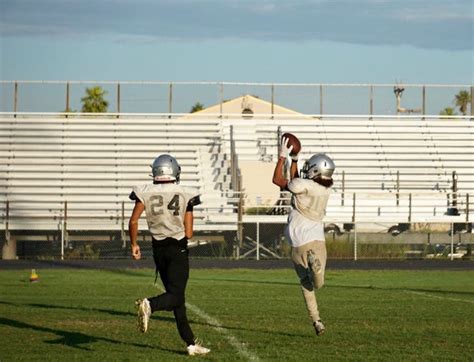
POLYGON ((307 160, 298 175, 298 154, 282 137, 279 158, 273 172, 273 183, 291 193, 292 210, 285 230, 291 245, 291 259, 299 277, 304 301, 316 335, 324 333, 315 290, 324 284, 326 241, 323 217, 333 185, 335 164, 327 155, 319 153, 307 160), (287 157, 291 158, 290 180, 283 176, 287 157))

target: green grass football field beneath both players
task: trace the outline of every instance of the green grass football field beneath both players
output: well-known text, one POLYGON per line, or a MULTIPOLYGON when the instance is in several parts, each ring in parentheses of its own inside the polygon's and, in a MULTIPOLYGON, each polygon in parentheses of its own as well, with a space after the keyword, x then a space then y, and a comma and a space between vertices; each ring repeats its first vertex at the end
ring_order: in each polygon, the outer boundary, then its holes
MULTIPOLYGON (((158 293, 151 269, 0 271, 0 360, 190 358, 172 313, 136 328, 134 300, 158 293)), ((293 270, 192 270, 188 314, 223 360, 472 361, 474 271, 328 270, 316 337, 293 270)))

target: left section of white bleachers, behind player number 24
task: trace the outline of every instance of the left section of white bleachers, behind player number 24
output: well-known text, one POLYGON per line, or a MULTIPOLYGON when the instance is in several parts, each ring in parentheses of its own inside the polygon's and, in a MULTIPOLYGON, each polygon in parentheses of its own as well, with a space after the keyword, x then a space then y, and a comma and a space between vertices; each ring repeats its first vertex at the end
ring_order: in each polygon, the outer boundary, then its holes
POLYGON ((2 226, 121 230, 133 207, 132 187, 151 182, 149 165, 170 153, 182 166, 181 184, 197 188, 205 201, 196 208, 196 230, 235 228, 222 221, 235 213, 221 192, 229 188, 220 174, 227 162, 221 139, 217 119, 1 116, 2 226))

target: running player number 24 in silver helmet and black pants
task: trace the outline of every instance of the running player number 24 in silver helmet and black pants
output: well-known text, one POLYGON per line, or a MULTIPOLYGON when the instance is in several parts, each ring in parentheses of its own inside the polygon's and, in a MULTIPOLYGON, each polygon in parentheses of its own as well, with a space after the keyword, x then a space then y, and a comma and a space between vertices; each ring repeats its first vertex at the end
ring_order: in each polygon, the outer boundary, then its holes
POLYGON ((138 299, 138 326, 148 330, 153 312, 173 311, 181 339, 189 355, 210 352, 196 343, 188 322, 185 289, 189 278, 188 239, 193 236, 193 207, 201 203, 195 190, 179 185, 181 167, 176 159, 163 154, 152 165, 153 184, 136 186, 130 194, 135 207, 129 221, 132 257, 141 258, 138 245, 138 221, 145 211, 152 234, 153 259, 165 292, 158 296, 138 299))

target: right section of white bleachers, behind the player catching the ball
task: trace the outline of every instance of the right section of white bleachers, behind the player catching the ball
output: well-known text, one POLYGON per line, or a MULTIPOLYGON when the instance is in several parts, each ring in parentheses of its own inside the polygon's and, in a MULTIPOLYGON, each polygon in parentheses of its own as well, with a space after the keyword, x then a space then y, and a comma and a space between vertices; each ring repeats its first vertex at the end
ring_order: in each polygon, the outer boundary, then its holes
POLYGON ((328 217, 334 220, 351 220, 353 193, 365 193, 357 201, 359 220, 438 220, 446 212, 453 171, 458 177, 458 193, 474 192, 474 130, 470 120, 272 116, 228 118, 225 122, 233 127, 239 159, 275 162, 278 129, 301 140, 299 167, 314 153, 329 154, 337 166, 337 193, 328 207, 328 217), (255 136, 242 137, 248 134, 255 136), (414 204, 416 212, 411 215, 406 202, 395 204, 399 193, 420 192, 430 193, 430 201, 426 207, 414 204), (376 197, 375 205, 370 193, 376 197))

